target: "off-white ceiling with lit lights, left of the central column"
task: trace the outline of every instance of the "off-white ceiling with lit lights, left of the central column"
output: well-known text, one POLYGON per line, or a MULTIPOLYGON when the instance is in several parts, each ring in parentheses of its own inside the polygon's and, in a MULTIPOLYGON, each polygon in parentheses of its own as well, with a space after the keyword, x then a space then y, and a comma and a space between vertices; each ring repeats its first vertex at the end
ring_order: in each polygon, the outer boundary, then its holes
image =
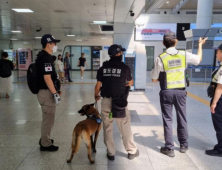
POLYGON ((113 22, 114 5, 115 0, 0 0, 0 39, 29 40, 45 33, 63 40, 91 39, 96 36, 91 35, 89 23, 113 22), (17 13, 12 8, 29 8, 34 13, 17 13), (39 28, 43 30, 36 32, 39 28), (22 33, 12 34, 11 30, 22 33))

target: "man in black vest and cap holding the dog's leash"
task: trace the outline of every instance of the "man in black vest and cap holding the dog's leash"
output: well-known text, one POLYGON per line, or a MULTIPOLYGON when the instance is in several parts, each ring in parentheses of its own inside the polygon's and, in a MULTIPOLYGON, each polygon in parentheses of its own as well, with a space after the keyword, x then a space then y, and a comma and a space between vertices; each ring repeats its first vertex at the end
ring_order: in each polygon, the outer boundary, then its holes
POLYGON ((131 117, 127 109, 127 89, 133 85, 130 68, 122 62, 122 51, 119 45, 112 45, 108 50, 110 60, 103 63, 97 73, 97 84, 95 86, 95 99, 100 100, 102 96, 101 110, 104 131, 104 143, 107 147, 107 158, 114 160, 115 145, 113 140, 113 120, 116 121, 122 135, 123 144, 128 152, 128 158, 133 159, 139 156, 139 151, 134 143, 131 131, 131 117), (113 108, 117 106, 116 112, 113 108))

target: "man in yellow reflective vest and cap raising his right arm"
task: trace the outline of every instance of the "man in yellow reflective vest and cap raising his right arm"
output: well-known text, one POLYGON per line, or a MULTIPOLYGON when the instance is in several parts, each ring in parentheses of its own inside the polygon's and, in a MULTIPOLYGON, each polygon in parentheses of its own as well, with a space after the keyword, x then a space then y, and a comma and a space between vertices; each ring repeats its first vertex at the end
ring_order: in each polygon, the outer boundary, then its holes
POLYGON ((163 44, 166 52, 156 58, 154 68, 151 72, 153 82, 160 82, 160 105, 163 117, 165 146, 161 147, 160 152, 174 157, 173 144, 173 115, 172 106, 174 105, 177 115, 177 135, 180 142, 180 152, 188 150, 188 132, 186 120, 186 76, 187 64, 198 65, 202 61, 202 45, 207 38, 199 39, 197 55, 178 51, 177 38, 174 32, 168 32, 163 37, 163 44))

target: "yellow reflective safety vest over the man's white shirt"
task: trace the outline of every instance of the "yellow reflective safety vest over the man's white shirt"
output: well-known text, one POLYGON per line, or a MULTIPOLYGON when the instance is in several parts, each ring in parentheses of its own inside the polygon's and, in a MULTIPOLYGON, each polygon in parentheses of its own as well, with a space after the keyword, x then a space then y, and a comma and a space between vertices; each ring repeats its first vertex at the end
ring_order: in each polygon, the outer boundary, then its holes
POLYGON ((175 55, 163 53, 160 56, 163 63, 164 73, 159 77, 162 90, 178 89, 186 87, 186 54, 178 51, 175 55))

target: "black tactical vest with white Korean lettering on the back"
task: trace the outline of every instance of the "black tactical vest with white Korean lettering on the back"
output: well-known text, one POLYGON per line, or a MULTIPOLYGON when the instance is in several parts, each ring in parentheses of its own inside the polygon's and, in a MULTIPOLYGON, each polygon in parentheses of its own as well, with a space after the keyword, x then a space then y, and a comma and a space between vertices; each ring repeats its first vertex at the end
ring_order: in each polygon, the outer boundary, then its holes
POLYGON ((124 97, 126 93, 126 67, 123 62, 106 61, 102 70, 102 97, 124 97))

